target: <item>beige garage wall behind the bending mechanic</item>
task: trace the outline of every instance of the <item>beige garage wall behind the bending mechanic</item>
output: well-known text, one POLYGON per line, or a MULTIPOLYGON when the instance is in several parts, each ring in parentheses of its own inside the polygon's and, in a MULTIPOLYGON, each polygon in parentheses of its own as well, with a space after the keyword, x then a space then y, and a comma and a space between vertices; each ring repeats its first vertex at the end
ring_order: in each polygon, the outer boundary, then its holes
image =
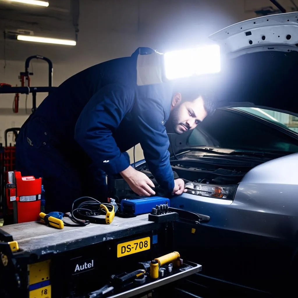
MULTIPOLYGON (((66 1, 66 0, 61 0, 66 1)), ((69 1, 69 0, 67 0, 69 1)), ((49 0, 51 4, 51 0, 49 0)), ((20 84, 28 55, 44 55, 54 66, 54 86, 69 76, 96 63, 131 55, 139 46, 161 52, 204 43, 207 36, 238 21, 255 17, 254 8, 270 5, 268 0, 81 0, 77 46, 30 44, 21 41, 0 43, 1 82, 20 84), (246 3, 248 2, 248 3, 246 3), (1 50, 3 49, 3 51, 1 50), (5 59, 5 61, 4 61, 5 59), (5 69, 4 69, 4 65, 5 69)), ((4 29, 4 28, 1 28, 4 29)), ((32 60, 31 86, 47 83, 47 63, 32 60)), ((46 94, 38 94, 38 103, 46 94)), ((0 142, 4 130, 18 127, 27 119, 25 95, 20 98, 20 112, 12 113, 13 94, 0 95, 0 142)), ((28 107, 32 103, 28 97, 28 107)), ((9 142, 12 139, 9 138, 9 142)), ((132 149, 129 150, 132 160, 132 149)), ((143 158, 136 149, 136 160, 143 158)))

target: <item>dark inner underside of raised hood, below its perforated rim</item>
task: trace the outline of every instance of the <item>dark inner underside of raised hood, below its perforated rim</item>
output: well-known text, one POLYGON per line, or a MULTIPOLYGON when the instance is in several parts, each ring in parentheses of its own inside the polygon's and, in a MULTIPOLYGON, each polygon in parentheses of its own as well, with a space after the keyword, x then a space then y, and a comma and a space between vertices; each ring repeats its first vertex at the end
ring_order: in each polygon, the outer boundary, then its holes
POLYGON ((259 107, 298 116, 297 65, 297 51, 230 59, 212 82, 217 107, 259 107))

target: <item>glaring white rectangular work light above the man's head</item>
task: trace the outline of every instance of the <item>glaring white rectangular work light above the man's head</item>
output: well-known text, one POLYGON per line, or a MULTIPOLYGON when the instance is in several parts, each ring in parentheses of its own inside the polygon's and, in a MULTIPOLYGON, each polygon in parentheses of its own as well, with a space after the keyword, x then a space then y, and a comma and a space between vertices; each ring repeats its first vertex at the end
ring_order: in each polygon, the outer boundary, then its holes
POLYGON ((164 54, 165 76, 168 80, 221 71, 220 47, 217 44, 164 54))

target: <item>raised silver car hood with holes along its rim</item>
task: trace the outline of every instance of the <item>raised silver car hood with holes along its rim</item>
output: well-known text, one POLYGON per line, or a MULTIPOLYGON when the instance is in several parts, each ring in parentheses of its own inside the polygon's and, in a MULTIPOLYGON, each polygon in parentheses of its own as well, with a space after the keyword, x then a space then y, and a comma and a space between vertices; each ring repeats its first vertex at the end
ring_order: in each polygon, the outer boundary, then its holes
POLYGON ((250 19, 209 38, 221 47, 222 71, 198 83, 215 91, 218 107, 258 107, 298 117, 298 13, 250 19))

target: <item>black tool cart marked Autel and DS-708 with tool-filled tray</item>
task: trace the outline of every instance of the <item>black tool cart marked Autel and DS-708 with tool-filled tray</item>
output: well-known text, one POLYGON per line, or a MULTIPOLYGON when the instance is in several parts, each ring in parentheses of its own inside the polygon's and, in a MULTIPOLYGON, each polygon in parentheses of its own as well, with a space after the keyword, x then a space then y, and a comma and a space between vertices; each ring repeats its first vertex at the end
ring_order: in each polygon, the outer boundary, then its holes
POLYGON ((169 296, 176 281, 201 271, 176 250, 174 223, 199 221, 188 213, 169 208, 161 215, 115 216, 111 224, 63 229, 39 221, 4 226, 0 296, 169 296))

